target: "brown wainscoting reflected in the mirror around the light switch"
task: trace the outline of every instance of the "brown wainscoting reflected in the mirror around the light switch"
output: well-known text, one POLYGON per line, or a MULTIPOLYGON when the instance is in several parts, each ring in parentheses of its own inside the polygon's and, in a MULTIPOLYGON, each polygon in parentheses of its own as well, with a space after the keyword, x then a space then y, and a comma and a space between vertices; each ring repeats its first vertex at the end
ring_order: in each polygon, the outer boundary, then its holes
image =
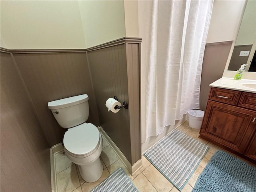
POLYGON ((228 70, 236 71, 242 64, 246 64, 249 56, 239 56, 241 51, 251 51, 252 45, 237 45, 234 47, 228 70))

